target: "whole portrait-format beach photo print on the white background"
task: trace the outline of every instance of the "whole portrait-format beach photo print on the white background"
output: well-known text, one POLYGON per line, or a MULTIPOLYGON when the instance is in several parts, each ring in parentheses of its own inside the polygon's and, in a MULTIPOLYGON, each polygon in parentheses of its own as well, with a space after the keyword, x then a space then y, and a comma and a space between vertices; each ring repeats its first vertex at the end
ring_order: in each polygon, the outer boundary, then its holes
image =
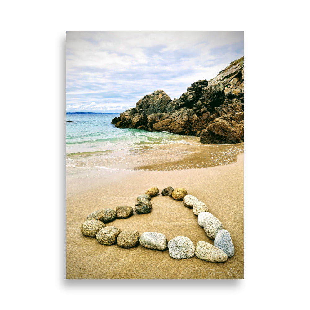
POLYGON ((243 279, 243 32, 67 32, 67 278, 243 279))

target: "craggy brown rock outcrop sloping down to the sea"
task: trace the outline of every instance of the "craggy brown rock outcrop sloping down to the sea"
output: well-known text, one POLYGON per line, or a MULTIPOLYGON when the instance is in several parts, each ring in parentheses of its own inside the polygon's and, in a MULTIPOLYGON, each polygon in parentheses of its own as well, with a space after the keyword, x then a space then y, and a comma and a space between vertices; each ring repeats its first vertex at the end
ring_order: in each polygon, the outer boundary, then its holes
POLYGON ((178 99, 171 100, 163 90, 144 96, 112 124, 200 136, 206 144, 242 142, 243 57, 215 78, 194 82, 178 99))

